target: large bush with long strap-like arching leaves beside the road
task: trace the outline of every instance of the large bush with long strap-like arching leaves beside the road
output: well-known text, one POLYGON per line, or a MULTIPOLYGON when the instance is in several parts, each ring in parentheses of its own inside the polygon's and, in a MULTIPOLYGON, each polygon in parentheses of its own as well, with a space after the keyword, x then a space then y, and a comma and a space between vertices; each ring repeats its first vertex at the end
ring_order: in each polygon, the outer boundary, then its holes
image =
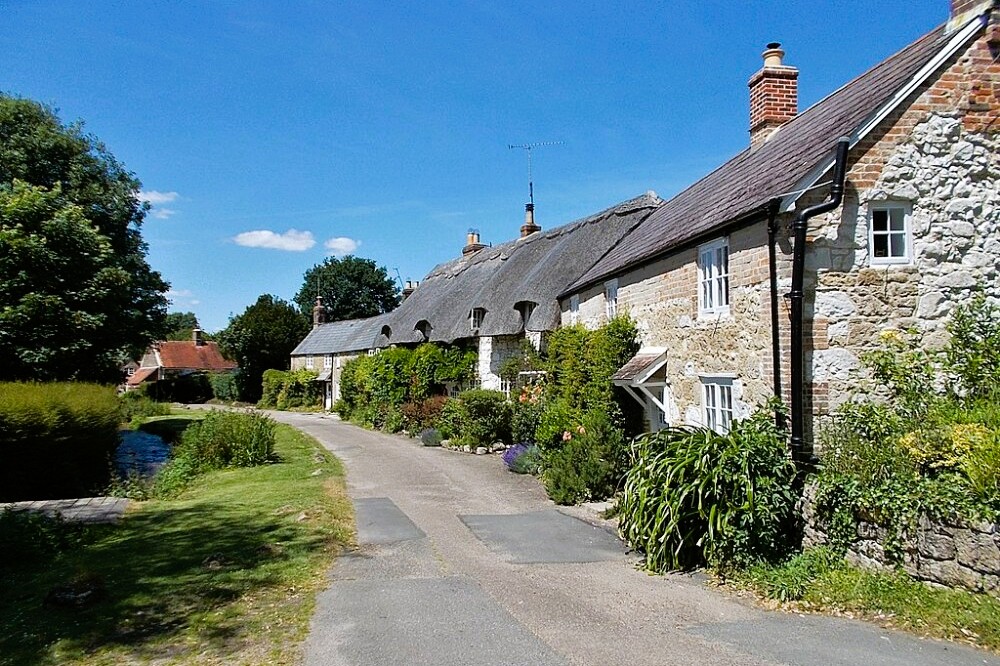
POLYGON ((792 535, 795 468, 773 411, 727 435, 671 427, 635 443, 619 500, 619 532, 654 571, 777 561, 792 535))

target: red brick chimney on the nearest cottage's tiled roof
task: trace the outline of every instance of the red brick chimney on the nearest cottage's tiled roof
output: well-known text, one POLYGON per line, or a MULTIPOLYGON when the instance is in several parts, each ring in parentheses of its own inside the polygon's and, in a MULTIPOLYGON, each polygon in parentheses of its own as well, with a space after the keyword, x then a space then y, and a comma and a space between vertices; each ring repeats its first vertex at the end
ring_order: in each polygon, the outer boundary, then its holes
POLYGON ((750 147, 767 141, 799 112, 799 70, 781 63, 785 52, 771 42, 764 67, 750 77, 750 147))

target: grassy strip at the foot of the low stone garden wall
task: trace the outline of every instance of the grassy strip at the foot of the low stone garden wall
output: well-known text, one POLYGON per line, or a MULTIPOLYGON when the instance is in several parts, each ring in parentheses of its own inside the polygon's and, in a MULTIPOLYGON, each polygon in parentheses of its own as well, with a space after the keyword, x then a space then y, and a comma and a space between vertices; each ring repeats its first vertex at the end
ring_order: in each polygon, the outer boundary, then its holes
POLYGON ((782 565, 758 565, 729 582, 776 606, 865 619, 1000 652, 1000 599, 932 588, 903 572, 858 569, 824 548, 782 565))

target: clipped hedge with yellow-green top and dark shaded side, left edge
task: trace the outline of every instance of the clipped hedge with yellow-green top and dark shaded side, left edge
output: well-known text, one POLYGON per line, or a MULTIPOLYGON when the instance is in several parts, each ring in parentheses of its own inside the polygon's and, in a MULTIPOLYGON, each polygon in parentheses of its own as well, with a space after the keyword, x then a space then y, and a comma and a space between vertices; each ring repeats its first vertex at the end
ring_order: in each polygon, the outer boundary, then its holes
POLYGON ((121 404, 97 384, 0 383, 0 501, 86 497, 106 486, 121 404))

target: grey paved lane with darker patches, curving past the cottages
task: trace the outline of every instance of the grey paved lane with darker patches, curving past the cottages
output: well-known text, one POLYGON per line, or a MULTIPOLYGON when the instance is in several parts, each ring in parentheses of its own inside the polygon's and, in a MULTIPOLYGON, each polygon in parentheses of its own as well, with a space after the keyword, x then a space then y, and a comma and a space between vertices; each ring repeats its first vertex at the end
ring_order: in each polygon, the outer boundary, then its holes
POLYGON ((649 576, 496 456, 419 446, 330 417, 275 417, 347 466, 359 549, 339 558, 309 666, 1000 664, 964 646, 754 608, 649 576))

